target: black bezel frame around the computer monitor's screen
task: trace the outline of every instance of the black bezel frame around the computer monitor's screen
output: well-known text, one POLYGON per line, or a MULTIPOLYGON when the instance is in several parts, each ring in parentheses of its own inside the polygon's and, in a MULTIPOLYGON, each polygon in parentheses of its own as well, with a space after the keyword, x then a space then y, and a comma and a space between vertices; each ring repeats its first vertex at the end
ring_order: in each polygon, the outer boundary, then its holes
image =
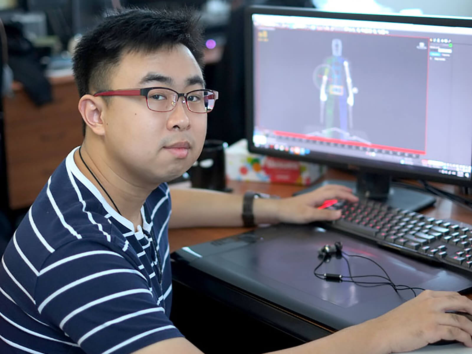
MULTIPOLYGON (((302 155, 288 154, 287 152, 278 152, 277 150, 256 147, 253 143, 253 14, 268 15, 287 15, 287 16, 306 16, 306 17, 322 17, 336 19, 351 19, 361 21, 376 22, 396 22, 419 25, 438 25, 453 27, 472 27, 472 19, 466 17, 434 17, 434 16, 403 16, 396 14, 354 14, 354 13, 335 13, 320 11, 311 8, 292 8, 278 6, 261 6, 253 5, 245 8, 244 13, 244 84, 245 84, 245 136, 247 139, 247 147, 249 152, 263 154, 267 156, 278 157, 287 160, 298 160, 312 163, 328 165, 334 168, 348 169, 351 171, 359 171, 367 173, 377 173, 389 175, 397 178, 422 179, 434 182, 442 182, 454 185, 468 186, 472 183, 472 174, 469 179, 459 179, 457 177, 449 177, 449 175, 441 175, 437 172, 424 171, 420 172, 418 166, 398 165, 378 160, 366 160, 355 157, 347 157, 326 152, 318 152, 311 154, 310 157, 302 155), (336 159, 336 160, 333 160, 336 159), (381 164, 381 167, 379 167, 381 164)), ((472 142, 472 140, 471 140, 472 142)), ((472 144, 471 144, 472 151, 472 144)), ((472 160, 471 160, 472 165, 472 160)), ((427 169, 427 168, 425 168, 427 169)), ((452 175, 451 175, 452 176, 452 175)))

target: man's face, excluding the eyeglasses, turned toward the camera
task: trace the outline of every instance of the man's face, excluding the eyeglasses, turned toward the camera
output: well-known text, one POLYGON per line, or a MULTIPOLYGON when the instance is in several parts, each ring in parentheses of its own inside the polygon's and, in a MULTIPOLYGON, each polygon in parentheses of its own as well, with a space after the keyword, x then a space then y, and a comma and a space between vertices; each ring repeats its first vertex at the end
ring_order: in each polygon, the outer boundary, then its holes
MULTIPOLYGON (((184 45, 125 53, 111 73, 110 90, 168 87, 187 93, 203 88, 202 71, 184 45)), ((179 177, 202 151, 207 114, 190 112, 183 98, 172 111, 155 112, 143 96, 114 96, 102 115, 107 158, 121 176, 140 185, 179 177)))

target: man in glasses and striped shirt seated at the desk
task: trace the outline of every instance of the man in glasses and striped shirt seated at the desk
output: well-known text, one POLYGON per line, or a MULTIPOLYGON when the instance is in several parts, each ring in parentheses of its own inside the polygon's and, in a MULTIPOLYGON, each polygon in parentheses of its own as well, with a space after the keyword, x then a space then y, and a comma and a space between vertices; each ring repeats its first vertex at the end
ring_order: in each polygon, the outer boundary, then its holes
MULTIPOLYGON (((135 9, 107 17, 78 44, 85 138, 2 258, 1 353, 200 353, 169 320, 167 229, 242 225, 241 196, 169 192, 165 184, 197 159, 205 111, 217 98, 204 89, 200 38, 186 12, 135 9)), ((330 198, 357 200, 341 186, 258 199, 255 221, 336 219, 314 208, 330 198)), ((425 291, 377 319, 280 353, 390 353, 441 338, 472 346, 472 323, 447 310, 472 313, 472 302, 425 291)))

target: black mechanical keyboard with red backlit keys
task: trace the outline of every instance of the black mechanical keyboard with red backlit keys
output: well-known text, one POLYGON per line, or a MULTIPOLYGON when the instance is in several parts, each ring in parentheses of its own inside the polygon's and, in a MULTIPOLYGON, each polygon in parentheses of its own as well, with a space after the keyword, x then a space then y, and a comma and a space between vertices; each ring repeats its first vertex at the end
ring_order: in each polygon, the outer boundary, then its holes
POLYGON ((324 223, 329 228, 472 275, 472 225, 371 200, 338 201, 327 209, 342 212, 340 219, 324 223))

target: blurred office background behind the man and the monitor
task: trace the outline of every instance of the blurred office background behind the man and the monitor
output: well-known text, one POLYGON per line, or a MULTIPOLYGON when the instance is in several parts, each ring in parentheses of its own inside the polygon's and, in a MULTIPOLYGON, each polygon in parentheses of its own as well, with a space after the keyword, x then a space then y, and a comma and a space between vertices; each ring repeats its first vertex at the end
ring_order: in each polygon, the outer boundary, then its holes
POLYGON ((205 79, 222 93, 208 138, 234 143, 244 137, 244 39, 239 29, 249 4, 472 17, 468 0, 0 0, 0 252, 47 177, 80 144, 70 60, 77 36, 110 8, 196 8, 205 28, 205 79))

